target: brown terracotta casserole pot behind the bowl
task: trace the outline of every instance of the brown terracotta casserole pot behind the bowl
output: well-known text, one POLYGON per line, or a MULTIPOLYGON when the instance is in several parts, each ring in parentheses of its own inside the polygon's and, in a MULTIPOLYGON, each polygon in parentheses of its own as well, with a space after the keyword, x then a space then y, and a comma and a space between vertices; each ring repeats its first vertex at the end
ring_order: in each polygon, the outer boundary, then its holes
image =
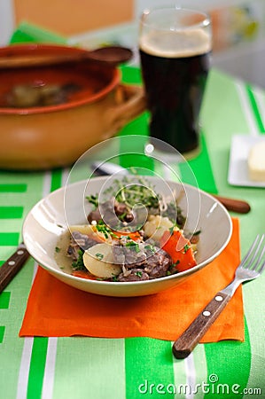
MULTIPOLYGON (((73 51, 83 50, 46 44, 12 45, 0 49, 0 58, 73 51)), ((117 68, 88 60, 2 69, 0 168, 31 170, 70 165, 91 146, 112 137, 145 109, 142 88, 120 81, 117 68), (10 103, 18 87, 49 85, 70 87, 66 100, 48 106, 10 103)))

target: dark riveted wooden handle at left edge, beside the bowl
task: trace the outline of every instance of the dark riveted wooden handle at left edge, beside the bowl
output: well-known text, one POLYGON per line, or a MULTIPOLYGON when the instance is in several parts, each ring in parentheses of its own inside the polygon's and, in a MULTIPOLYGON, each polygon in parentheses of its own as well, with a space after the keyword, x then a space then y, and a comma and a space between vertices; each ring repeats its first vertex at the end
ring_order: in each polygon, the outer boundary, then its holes
POLYGON ((14 254, 0 268, 0 293, 11 282, 23 264, 27 261, 29 254, 26 246, 20 244, 14 254))

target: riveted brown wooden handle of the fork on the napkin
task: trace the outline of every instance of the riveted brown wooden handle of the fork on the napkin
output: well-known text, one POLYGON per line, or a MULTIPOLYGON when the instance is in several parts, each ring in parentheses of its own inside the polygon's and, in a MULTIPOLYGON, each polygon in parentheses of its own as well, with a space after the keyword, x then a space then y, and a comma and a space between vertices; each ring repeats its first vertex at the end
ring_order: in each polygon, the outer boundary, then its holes
POLYGON ((207 304, 207 307, 193 320, 183 334, 175 340, 172 351, 176 359, 183 359, 191 354, 228 301, 230 301, 230 295, 222 292, 216 293, 213 300, 207 304))

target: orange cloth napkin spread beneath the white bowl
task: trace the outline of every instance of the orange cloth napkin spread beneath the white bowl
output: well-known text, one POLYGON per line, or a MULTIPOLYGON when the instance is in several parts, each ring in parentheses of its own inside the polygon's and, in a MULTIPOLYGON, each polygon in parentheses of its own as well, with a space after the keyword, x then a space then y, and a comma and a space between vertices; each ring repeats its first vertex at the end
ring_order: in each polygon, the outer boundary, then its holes
MULTIPOLYGON (((175 340, 214 293, 233 278, 240 254, 238 232, 238 219, 233 219, 230 243, 214 262, 180 286, 144 297, 113 298, 85 293, 39 268, 19 336, 137 336, 175 340)), ((241 287, 201 342, 227 339, 244 340, 241 287)))

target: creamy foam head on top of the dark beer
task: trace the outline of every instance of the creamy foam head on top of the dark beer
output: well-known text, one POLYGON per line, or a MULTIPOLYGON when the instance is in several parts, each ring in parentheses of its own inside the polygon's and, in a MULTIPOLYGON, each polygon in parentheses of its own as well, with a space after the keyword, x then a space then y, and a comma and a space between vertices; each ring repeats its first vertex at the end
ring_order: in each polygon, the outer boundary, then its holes
POLYGON ((140 37, 140 49, 158 57, 183 58, 205 54, 212 49, 211 37, 199 28, 150 32, 140 37))

